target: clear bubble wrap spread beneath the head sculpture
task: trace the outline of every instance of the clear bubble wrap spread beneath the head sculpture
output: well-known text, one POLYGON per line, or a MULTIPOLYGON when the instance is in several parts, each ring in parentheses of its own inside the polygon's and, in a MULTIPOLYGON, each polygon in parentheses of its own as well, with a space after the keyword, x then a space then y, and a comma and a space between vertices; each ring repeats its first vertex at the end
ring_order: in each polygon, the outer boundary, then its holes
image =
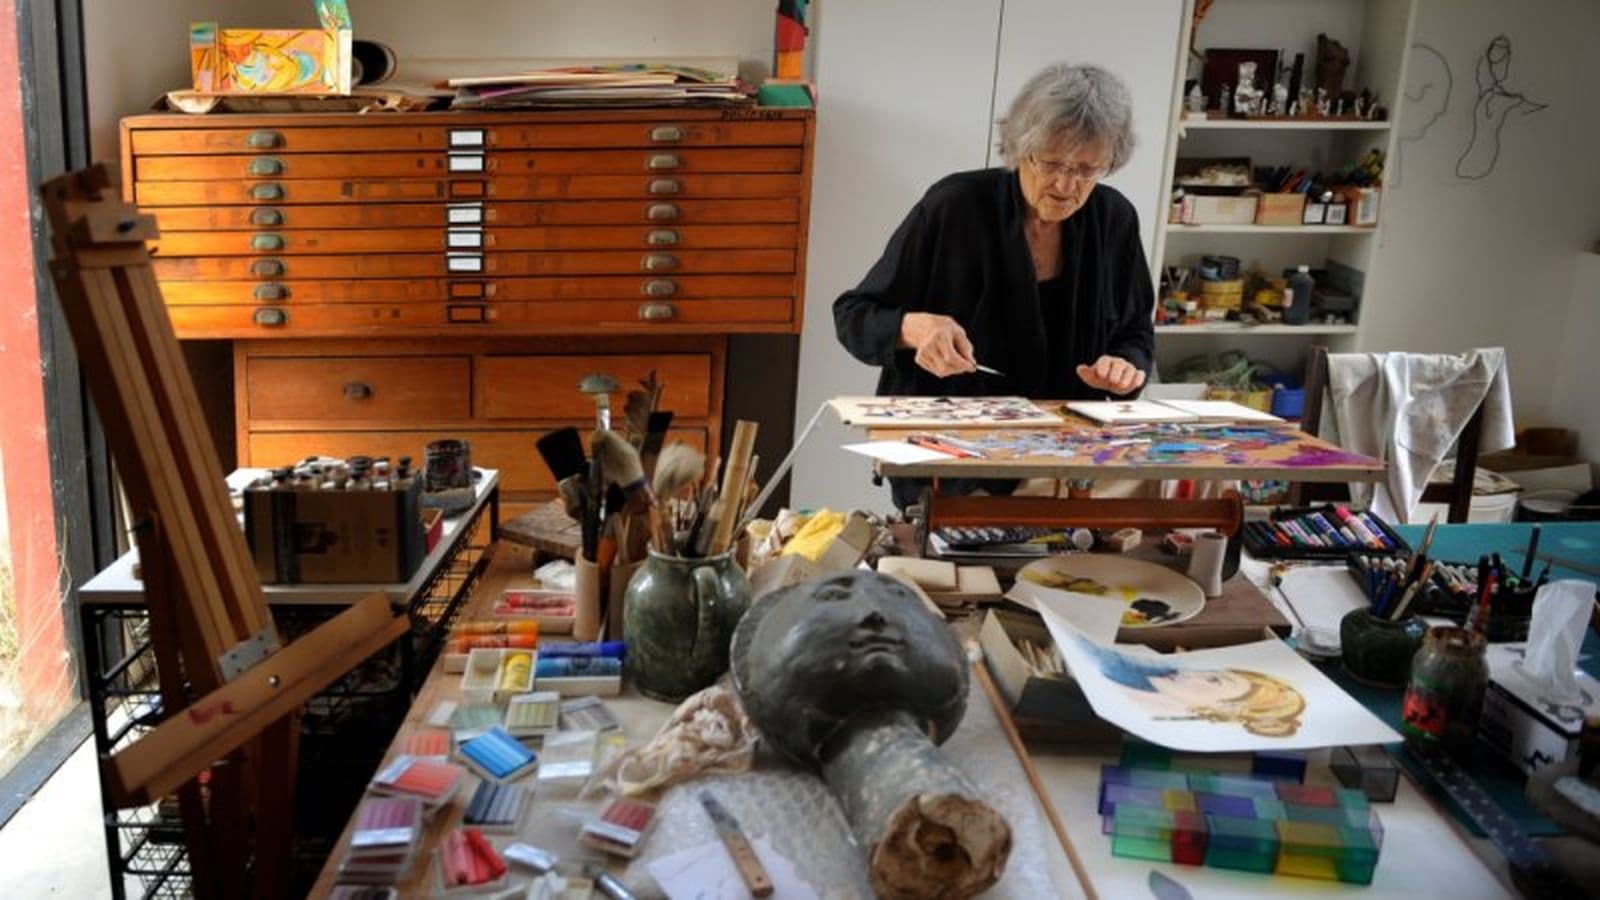
MULTIPOLYGON (((976 684, 968 693, 962 725, 942 749, 1011 825, 1005 876, 984 897, 1035 900, 1058 895, 1050 870, 1061 866, 1051 866, 1048 857, 1054 838, 989 698, 976 684)), ((622 882, 642 900, 664 897, 646 870, 651 860, 718 839, 699 802, 702 790, 728 807, 747 836, 768 838, 824 900, 870 900, 866 849, 851 836, 838 801, 821 777, 771 754, 762 754, 755 769, 744 775, 698 778, 661 798, 654 831, 622 874, 622 882)))

